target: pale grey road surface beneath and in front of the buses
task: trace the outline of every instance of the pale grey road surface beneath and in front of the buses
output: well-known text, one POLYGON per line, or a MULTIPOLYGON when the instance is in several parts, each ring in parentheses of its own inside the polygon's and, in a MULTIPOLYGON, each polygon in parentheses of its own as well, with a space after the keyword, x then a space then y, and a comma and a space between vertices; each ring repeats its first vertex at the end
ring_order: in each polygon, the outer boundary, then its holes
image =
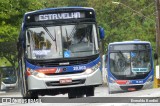
MULTIPOLYGON (((21 97, 18 91, 1 92, 0 99, 10 97, 21 97)), ((107 86, 100 86, 95 89, 94 97, 84 97, 68 99, 68 95, 44 96, 40 97, 38 103, 23 103, 30 106, 160 106, 160 88, 150 90, 140 90, 133 92, 124 92, 108 94, 107 86)), ((18 98, 16 98, 18 99, 18 98)), ((2 101, 2 100, 0 100, 2 101)), ((14 101, 15 102, 15 101, 14 101)), ((21 106, 22 103, 0 103, 4 106, 21 106)))

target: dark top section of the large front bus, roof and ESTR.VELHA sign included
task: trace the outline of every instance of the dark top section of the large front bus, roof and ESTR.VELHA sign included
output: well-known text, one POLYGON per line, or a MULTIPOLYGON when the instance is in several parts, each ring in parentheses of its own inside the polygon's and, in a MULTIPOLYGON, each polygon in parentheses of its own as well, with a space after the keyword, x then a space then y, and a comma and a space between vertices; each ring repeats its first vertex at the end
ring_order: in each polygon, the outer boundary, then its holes
POLYGON ((43 22, 51 22, 52 24, 65 23, 60 20, 76 22, 81 19, 87 19, 89 22, 96 22, 94 9, 91 7, 58 7, 35 10, 25 13, 23 22, 24 24, 37 25, 43 22))

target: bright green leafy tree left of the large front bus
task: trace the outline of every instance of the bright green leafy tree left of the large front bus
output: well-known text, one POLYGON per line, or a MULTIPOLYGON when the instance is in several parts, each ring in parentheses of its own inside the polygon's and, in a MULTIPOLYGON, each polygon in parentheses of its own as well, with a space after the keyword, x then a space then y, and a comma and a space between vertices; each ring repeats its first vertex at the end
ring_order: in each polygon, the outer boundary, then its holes
POLYGON ((16 66, 16 42, 25 12, 40 9, 38 0, 1 0, 0 1, 0 56, 16 66))

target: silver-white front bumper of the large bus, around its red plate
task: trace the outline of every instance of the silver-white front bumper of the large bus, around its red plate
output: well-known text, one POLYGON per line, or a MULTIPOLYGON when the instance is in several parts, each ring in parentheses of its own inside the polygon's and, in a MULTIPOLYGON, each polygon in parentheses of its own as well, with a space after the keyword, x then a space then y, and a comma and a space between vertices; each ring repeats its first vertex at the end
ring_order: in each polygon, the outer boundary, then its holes
POLYGON ((28 90, 41 89, 57 89, 57 88, 71 88, 83 86, 96 86, 102 84, 102 73, 99 69, 91 74, 66 74, 66 75, 50 75, 44 78, 38 78, 33 75, 28 76, 28 90), (72 79, 70 84, 60 84, 61 79, 72 79))

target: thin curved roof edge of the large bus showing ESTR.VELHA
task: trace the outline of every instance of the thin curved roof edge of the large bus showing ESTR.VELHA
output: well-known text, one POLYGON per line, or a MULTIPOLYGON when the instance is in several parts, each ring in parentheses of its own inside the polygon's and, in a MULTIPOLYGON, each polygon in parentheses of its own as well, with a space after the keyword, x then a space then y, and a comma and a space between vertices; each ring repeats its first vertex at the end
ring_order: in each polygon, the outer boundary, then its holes
POLYGON ((57 8, 45 8, 45 9, 41 9, 41 10, 35 10, 35 11, 30 11, 30 12, 26 12, 25 15, 29 15, 29 14, 34 14, 34 13, 42 13, 44 11, 78 11, 78 10, 90 10, 90 11, 94 11, 93 8, 91 7, 57 7, 57 8))

